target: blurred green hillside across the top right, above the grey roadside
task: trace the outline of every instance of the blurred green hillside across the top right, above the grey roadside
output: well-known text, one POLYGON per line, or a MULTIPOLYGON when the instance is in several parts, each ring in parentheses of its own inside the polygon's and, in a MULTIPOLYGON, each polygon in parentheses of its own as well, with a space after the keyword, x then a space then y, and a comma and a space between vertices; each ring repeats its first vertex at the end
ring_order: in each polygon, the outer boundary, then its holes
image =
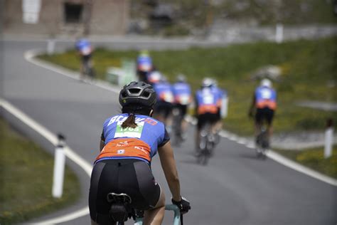
POLYGON ((140 33, 166 36, 203 33, 217 19, 258 26, 337 22, 333 0, 132 0, 130 4, 131 19, 145 24, 140 33), (163 5, 169 9, 159 10, 163 5), (155 11, 161 16, 153 18, 155 11))

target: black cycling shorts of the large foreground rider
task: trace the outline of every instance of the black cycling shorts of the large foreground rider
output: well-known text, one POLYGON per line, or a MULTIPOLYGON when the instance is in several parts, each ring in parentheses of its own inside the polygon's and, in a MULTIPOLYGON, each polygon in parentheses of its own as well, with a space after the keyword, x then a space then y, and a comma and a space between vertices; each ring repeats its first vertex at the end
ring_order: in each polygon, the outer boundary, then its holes
POLYGON ((97 162, 91 174, 89 209, 91 219, 98 224, 113 224, 107 202, 110 192, 128 194, 134 209, 147 210, 156 206, 161 188, 144 161, 106 159, 97 162))

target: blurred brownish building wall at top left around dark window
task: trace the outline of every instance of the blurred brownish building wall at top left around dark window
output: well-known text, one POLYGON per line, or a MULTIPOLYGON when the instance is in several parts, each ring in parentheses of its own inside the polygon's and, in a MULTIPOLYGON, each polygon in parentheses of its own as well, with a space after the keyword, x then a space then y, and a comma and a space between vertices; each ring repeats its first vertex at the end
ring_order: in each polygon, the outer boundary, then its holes
POLYGON ((129 0, 41 0, 39 20, 33 24, 23 23, 22 4, 23 0, 4 1, 4 33, 123 35, 129 23, 129 0), (67 21, 66 5, 80 6, 78 21, 67 21))

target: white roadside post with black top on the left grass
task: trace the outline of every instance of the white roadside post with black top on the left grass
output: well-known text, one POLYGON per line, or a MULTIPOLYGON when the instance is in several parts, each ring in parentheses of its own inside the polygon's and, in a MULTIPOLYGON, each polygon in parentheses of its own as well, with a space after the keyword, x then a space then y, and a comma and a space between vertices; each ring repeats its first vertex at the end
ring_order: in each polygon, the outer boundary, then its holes
POLYGON ((58 134, 58 145, 55 147, 54 175, 53 175, 53 197, 60 198, 63 194, 63 179, 65 171, 65 137, 58 134))

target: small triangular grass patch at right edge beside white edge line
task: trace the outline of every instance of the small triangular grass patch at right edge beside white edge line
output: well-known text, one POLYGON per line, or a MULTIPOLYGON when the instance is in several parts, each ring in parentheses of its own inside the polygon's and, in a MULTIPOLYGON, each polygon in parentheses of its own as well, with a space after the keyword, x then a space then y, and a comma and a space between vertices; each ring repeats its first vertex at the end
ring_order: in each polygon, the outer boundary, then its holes
POLYGON ((324 158, 322 147, 306 150, 274 150, 289 159, 299 162, 306 167, 326 174, 329 177, 337 179, 337 145, 333 146, 331 157, 324 158))

